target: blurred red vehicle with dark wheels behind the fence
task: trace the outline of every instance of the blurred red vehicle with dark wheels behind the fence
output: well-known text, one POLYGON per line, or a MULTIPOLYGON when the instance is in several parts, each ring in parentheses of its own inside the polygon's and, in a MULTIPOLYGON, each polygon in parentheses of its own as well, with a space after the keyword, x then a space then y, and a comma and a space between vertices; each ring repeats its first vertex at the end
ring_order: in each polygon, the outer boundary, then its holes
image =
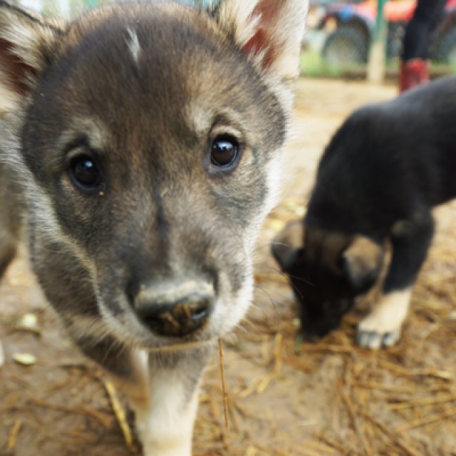
MULTIPOLYGON (((387 57, 400 56, 405 25, 415 11, 415 0, 388 1, 385 19, 388 24, 387 57)), ((323 59, 333 65, 366 63, 371 44, 377 1, 336 3, 327 6, 319 28, 332 28, 323 45, 323 59)), ((456 0, 448 0, 445 13, 432 36, 432 61, 456 64, 456 0)))

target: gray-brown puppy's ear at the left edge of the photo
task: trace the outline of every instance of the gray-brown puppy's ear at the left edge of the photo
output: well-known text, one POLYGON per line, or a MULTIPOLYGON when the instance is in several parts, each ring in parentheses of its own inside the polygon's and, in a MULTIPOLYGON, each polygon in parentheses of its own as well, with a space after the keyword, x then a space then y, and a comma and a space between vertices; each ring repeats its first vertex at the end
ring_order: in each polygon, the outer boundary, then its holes
POLYGON ((23 103, 62 34, 56 22, 0 0, 0 115, 23 103))

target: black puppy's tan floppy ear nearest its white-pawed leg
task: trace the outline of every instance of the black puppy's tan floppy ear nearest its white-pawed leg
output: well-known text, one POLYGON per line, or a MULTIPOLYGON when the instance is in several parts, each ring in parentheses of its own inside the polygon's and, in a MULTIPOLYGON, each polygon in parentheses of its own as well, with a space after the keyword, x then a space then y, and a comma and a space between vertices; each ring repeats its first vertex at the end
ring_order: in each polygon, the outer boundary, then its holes
POLYGON ((375 284, 380 274, 385 249, 364 236, 356 236, 341 254, 343 272, 353 290, 362 293, 375 284))

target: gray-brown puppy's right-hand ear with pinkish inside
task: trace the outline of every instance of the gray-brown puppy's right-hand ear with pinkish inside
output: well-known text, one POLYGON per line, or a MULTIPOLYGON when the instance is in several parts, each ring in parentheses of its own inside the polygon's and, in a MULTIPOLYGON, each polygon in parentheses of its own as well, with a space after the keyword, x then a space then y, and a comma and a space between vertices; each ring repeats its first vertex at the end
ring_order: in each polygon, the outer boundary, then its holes
POLYGON ((290 81, 299 76, 307 0, 222 0, 219 24, 264 73, 290 81))

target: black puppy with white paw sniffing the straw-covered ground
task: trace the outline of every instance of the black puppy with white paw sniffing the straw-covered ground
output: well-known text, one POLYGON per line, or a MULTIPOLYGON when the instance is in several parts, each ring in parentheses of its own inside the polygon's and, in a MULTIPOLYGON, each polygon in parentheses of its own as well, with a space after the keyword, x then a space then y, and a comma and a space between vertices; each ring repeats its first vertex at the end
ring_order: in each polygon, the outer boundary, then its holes
POLYGON ((356 110, 326 147, 303 221, 272 244, 305 336, 338 326, 393 248, 382 296, 358 325, 366 348, 398 341, 433 234, 432 207, 456 197, 456 78, 356 110))

